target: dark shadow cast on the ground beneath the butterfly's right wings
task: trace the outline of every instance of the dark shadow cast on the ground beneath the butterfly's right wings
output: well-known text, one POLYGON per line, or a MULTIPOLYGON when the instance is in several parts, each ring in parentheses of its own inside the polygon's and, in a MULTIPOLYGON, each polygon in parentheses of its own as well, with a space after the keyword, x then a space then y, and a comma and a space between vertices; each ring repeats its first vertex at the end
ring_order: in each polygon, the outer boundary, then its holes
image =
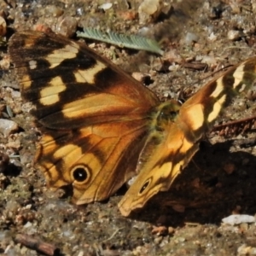
POLYGON ((131 218, 150 223, 219 224, 237 212, 256 212, 256 156, 234 143, 201 143, 201 150, 167 192, 152 198, 131 218))

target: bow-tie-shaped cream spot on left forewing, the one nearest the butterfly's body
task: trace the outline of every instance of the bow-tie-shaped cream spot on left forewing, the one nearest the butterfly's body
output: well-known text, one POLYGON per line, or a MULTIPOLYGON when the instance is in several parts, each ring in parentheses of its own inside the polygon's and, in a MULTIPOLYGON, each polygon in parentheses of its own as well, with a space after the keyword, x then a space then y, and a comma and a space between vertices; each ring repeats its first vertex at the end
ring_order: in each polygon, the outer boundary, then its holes
POLYGON ((87 82, 89 84, 95 84, 96 74, 105 68, 106 66, 102 62, 96 61, 96 64, 93 67, 90 67, 85 70, 76 70, 73 74, 78 83, 87 82))

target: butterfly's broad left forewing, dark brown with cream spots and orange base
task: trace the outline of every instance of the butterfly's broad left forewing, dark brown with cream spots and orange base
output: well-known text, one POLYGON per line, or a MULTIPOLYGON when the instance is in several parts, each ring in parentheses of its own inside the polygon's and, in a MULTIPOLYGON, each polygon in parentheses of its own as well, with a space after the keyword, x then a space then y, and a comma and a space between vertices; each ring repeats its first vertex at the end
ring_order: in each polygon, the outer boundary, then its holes
POLYGON ((32 114, 48 128, 139 119, 158 102, 110 61, 53 32, 15 33, 9 54, 32 114))

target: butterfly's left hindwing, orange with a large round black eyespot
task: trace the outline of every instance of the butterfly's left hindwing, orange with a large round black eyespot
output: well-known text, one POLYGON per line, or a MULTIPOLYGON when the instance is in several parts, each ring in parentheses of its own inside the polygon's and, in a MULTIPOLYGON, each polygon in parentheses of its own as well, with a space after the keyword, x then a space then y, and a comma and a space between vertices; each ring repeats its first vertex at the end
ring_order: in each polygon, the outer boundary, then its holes
POLYGON ((113 195, 135 174, 145 127, 134 125, 113 123, 45 132, 38 144, 38 161, 49 186, 58 189, 73 184, 76 204, 113 195))

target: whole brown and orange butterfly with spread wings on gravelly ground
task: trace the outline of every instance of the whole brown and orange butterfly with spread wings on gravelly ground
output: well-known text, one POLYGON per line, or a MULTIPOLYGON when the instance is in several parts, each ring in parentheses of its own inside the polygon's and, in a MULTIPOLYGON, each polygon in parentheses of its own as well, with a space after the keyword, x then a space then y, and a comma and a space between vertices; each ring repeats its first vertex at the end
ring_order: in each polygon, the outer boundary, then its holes
POLYGON ((41 125, 37 160, 49 187, 72 184, 73 202, 84 204, 137 175, 119 202, 124 216, 170 188, 232 96, 256 79, 254 57, 180 106, 161 103, 92 49, 53 32, 15 33, 9 55, 41 125))

